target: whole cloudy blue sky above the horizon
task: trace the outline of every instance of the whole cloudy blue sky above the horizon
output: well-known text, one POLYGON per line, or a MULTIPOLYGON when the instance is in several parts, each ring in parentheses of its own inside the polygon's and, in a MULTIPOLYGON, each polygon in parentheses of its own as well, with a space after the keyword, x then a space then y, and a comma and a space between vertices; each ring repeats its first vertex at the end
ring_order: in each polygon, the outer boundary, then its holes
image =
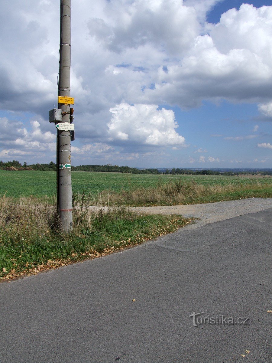
MULTIPOLYGON (((271 1, 71 4, 72 164, 272 167, 271 1)), ((55 160, 58 5, 0 15, 3 161, 55 160)))

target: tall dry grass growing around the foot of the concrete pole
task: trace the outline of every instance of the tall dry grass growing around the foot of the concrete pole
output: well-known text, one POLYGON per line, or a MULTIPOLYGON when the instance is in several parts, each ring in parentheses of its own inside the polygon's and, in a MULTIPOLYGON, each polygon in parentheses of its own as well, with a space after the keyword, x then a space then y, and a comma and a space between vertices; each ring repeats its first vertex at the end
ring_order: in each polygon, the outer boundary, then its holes
MULTIPOLYGON (((98 215, 113 213, 111 210, 103 209, 101 196, 77 195, 73 201, 73 234, 82 228, 91 230, 94 220, 98 215), (96 208, 86 208, 94 205, 96 208)), ((0 197, 0 235, 8 233, 13 240, 36 240, 37 237, 50 236, 57 233, 63 235, 58 228, 58 215, 55 206, 49 203, 47 197, 33 198, 20 197, 13 199, 3 195, 0 197)))

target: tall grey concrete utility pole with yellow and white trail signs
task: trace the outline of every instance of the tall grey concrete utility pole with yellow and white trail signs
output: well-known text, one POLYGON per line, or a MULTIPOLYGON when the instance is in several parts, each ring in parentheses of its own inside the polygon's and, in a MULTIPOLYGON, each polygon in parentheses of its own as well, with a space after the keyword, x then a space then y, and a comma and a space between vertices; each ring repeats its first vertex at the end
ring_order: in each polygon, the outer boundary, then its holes
POLYGON ((73 228, 71 139, 74 136, 74 99, 70 97, 71 66, 71 1, 61 0, 61 27, 59 45, 58 109, 49 112, 49 121, 57 128, 57 210, 60 228, 69 232, 73 228))

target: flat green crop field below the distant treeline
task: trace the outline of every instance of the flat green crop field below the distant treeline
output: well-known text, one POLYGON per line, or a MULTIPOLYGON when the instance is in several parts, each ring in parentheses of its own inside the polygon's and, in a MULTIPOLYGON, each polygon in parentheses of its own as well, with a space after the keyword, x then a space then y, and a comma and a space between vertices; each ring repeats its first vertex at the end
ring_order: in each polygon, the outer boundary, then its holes
MULTIPOLYGON (((194 180, 203 185, 213 184, 248 184, 254 183, 252 178, 221 175, 143 175, 111 172, 72 172, 73 192, 97 193, 103 190, 119 192, 137 187, 156 187, 166 184, 169 180, 194 180)), ((260 178, 260 183, 267 183, 271 178, 260 178)), ((56 194, 56 173, 50 171, 4 171, 0 170, 0 195, 6 196, 45 196, 56 194)))

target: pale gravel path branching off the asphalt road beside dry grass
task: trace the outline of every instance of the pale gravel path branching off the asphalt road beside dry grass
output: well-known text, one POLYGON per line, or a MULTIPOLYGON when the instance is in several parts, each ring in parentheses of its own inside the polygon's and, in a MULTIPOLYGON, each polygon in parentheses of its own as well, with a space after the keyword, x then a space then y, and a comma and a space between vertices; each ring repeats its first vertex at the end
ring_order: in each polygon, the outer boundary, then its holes
POLYGON ((247 213, 260 212, 269 208, 272 208, 272 198, 248 198, 216 203, 134 207, 131 209, 150 214, 181 214, 184 217, 200 218, 201 220, 197 223, 198 228, 208 223, 223 221, 247 213))

